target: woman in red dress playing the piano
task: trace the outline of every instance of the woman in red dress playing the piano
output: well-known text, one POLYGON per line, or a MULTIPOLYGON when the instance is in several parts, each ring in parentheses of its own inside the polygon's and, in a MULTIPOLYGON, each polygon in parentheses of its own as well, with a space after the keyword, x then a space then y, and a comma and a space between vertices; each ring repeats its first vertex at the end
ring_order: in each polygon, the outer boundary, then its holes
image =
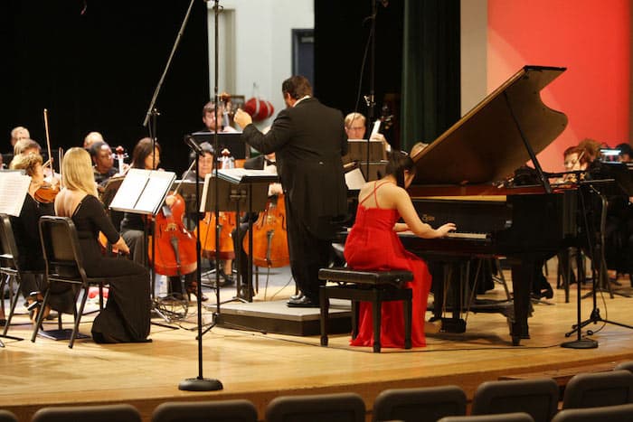
MULTIPOLYGON (((415 165, 411 157, 396 151, 390 157, 383 179, 364 184, 358 195, 354 227, 345 242, 345 260, 354 269, 404 269, 413 273, 413 280, 407 283, 413 294, 411 342, 413 347, 423 347, 426 345, 424 314, 431 277, 426 263, 404 249, 397 232, 411 230, 420 238, 433 239, 445 236, 456 227, 454 223, 447 223, 433 229, 420 220, 409 193, 405 191, 414 177, 415 165), (404 222, 397 222, 401 217, 404 222)), ((372 346, 372 305, 363 302, 359 308, 358 335, 350 343, 372 346)), ((404 347, 400 301, 383 303, 381 343, 383 347, 404 347)))

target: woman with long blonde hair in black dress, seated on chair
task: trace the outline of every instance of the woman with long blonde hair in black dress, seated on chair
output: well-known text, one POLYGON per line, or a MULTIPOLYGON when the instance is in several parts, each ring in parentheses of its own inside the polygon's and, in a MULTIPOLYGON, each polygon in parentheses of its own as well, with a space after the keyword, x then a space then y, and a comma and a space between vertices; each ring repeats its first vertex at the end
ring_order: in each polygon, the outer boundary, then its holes
POLYGON ((120 252, 129 253, 129 249, 99 202, 88 152, 71 148, 63 158, 61 173, 64 188, 55 198, 55 212, 74 222, 87 275, 109 278, 108 302, 92 323, 92 338, 99 343, 145 342, 150 323, 149 274, 128 259, 101 254, 99 231, 120 252))

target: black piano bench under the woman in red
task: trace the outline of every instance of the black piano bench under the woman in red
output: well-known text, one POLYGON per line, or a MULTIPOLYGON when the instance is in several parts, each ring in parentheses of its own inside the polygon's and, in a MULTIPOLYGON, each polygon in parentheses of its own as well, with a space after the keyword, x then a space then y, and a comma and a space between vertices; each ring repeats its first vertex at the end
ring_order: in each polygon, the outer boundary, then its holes
POLYGON ((373 352, 380 352, 381 308, 383 302, 402 300, 404 310, 404 348, 411 349, 411 289, 404 287, 413 279, 411 271, 369 271, 347 267, 321 268, 320 280, 336 282, 337 285, 321 286, 321 345, 327 345, 327 318, 329 299, 349 299, 352 301, 352 338, 358 335, 358 303, 372 303, 373 352))

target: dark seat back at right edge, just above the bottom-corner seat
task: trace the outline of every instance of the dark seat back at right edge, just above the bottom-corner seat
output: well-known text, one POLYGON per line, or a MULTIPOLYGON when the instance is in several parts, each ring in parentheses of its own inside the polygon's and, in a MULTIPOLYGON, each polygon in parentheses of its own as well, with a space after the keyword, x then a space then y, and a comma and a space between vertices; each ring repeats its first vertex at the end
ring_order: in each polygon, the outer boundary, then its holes
POLYGON ((633 403, 633 373, 628 370, 579 373, 562 395, 562 408, 600 408, 633 403))

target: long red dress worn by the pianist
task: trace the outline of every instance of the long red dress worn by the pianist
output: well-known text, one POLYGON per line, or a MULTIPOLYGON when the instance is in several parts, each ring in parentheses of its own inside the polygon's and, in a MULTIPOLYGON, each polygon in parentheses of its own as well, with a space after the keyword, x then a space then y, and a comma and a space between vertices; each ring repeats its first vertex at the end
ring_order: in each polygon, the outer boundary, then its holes
MULTIPOLYGON (((384 183, 383 183, 384 184, 384 183)), ((345 260, 354 269, 405 269, 413 273, 413 280, 407 283, 412 290, 411 343, 413 347, 426 346, 424 337, 424 315, 431 277, 426 263, 408 252, 402 246, 393 225, 400 219, 397 210, 365 208, 363 202, 380 189, 376 184, 370 193, 358 204, 354 227, 345 241, 345 260)), ((376 207, 378 207, 376 201, 376 207)), ((402 302, 384 302, 382 309, 381 343, 383 347, 404 347, 404 316, 402 302)), ((350 341, 353 346, 373 345, 372 305, 361 302, 359 306, 358 336, 350 341)))

